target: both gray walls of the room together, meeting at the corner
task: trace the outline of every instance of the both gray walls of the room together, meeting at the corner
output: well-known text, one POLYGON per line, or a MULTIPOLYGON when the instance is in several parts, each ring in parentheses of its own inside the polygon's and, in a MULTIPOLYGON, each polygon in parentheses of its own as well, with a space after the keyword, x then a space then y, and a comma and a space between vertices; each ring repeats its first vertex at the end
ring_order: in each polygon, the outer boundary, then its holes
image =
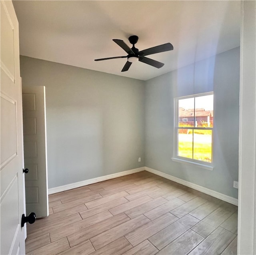
POLYGON ((147 166, 237 198, 239 52, 146 82, 21 56, 22 84, 46 86, 49 188, 147 166), (171 160, 174 98, 210 91, 213 171, 171 160))

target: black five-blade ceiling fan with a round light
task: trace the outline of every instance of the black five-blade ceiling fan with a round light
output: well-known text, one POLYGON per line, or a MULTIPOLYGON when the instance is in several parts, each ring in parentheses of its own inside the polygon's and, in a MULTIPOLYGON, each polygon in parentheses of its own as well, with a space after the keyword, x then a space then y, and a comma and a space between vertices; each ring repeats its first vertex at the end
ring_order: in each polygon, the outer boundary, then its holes
POLYGON ((130 44, 132 44, 132 48, 130 48, 123 40, 113 39, 113 41, 116 44, 118 44, 126 53, 128 53, 127 56, 112 57, 112 58, 99 58, 99 59, 95 59, 95 61, 108 60, 108 59, 114 59, 114 58, 127 58, 127 62, 124 65, 121 72, 128 71, 131 64, 134 62, 138 62, 138 61, 148 64, 150 66, 154 66, 156 68, 161 68, 162 66, 164 66, 164 63, 158 62, 151 58, 146 58, 145 56, 155 54, 155 53, 165 52, 168 50, 173 50, 172 44, 170 44, 170 42, 168 42, 166 44, 158 45, 158 46, 155 46, 152 48, 148 48, 146 50, 139 51, 134 46, 134 44, 136 44, 136 42, 138 42, 138 39, 139 39, 138 36, 130 36, 128 39, 129 39, 130 44))

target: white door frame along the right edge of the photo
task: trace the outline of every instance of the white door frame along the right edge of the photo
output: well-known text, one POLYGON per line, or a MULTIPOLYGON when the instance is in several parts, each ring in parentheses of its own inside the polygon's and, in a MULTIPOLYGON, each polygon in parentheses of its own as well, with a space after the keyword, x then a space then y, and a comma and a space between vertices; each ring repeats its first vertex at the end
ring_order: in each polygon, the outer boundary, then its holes
POLYGON ((256 1, 241 1, 238 254, 256 254, 256 1))

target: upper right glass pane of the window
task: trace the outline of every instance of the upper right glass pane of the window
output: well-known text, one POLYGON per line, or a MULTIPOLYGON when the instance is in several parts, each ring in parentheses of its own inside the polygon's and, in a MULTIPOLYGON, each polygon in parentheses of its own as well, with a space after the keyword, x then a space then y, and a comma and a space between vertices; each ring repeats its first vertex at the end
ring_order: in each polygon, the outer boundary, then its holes
POLYGON ((213 127, 213 95, 195 98, 196 127, 213 127))

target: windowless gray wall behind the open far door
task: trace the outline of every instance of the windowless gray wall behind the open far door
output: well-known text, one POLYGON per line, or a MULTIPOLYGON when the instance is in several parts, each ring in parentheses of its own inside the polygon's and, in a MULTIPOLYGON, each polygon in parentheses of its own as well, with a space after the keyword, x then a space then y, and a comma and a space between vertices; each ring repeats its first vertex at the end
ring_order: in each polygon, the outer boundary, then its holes
POLYGON ((24 56, 20 73, 46 87, 49 188, 145 165, 145 82, 24 56))

